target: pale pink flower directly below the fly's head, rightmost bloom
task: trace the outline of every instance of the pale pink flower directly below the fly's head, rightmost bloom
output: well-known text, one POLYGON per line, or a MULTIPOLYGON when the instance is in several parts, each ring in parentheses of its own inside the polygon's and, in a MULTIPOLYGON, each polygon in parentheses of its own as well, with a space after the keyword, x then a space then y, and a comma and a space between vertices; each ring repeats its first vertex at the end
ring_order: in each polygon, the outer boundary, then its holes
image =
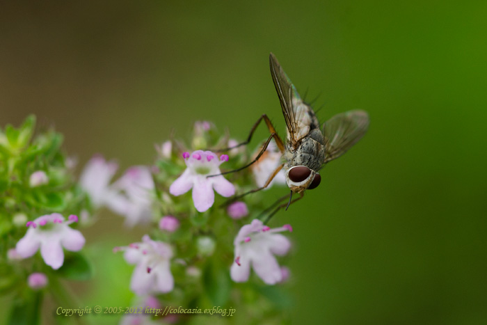
POLYGON ((268 285, 282 280, 282 271, 274 255, 285 255, 291 243, 276 232, 292 231, 290 225, 271 229, 260 220, 244 225, 234 240, 235 260, 230 268, 230 276, 235 282, 245 282, 250 276, 252 265, 257 276, 268 285))

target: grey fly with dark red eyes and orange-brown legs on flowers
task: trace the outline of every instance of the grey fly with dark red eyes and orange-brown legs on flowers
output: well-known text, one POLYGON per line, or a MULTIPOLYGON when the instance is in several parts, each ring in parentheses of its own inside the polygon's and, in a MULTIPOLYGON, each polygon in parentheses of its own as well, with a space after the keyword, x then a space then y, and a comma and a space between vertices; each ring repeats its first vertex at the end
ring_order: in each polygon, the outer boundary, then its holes
MULTIPOLYGON (((289 77, 287 77, 286 72, 282 70, 276 56, 272 53, 269 56, 269 63, 271 66, 272 80, 276 87, 282 114, 286 122, 286 142, 282 141, 278 136, 276 129, 273 127, 271 120, 269 120, 266 114, 263 114, 253 125, 247 140, 232 147, 237 148, 241 145, 248 144, 255 129, 257 129, 260 122, 264 120, 269 132, 271 132, 271 136, 269 136, 266 143, 264 143, 262 150, 250 164, 222 174, 241 171, 254 164, 260 159, 262 154, 264 154, 267 146, 272 138, 274 138, 276 145, 282 153, 282 164, 271 173, 264 186, 248 191, 230 200, 230 202, 233 202, 234 200, 246 196, 248 193, 253 193, 266 188, 269 186, 273 178, 276 177, 278 172, 281 169, 284 169, 286 183, 291 190, 289 202, 287 204, 279 205, 276 208, 275 205, 278 205, 288 196, 280 198, 273 207, 271 207, 271 209, 274 209, 270 215, 272 216, 281 207, 286 207, 287 209, 291 203, 302 198, 304 191, 315 189, 319 186, 321 182, 319 171, 321 168, 323 168, 329 161, 340 157, 365 135, 365 132, 367 132, 367 128, 369 127, 369 116, 367 112, 361 110, 347 111, 333 116, 333 118, 327 120, 321 127, 312 107, 301 99, 296 87, 292 84, 289 77), (301 196, 292 200, 293 193, 298 193, 301 196)), ((232 148, 225 148, 223 150, 230 150, 232 148)))

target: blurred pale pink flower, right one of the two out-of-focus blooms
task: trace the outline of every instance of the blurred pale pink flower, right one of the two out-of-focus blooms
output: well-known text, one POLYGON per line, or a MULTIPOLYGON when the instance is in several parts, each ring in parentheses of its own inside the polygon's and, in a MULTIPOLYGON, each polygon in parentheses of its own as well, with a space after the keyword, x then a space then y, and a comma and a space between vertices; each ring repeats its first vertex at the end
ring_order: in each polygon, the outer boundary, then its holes
POLYGON ((125 224, 134 226, 147 223, 152 217, 154 201, 154 181, 149 168, 133 166, 119 180, 113 183, 113 195, 106 205, 113 212, 125 216, 125 224))

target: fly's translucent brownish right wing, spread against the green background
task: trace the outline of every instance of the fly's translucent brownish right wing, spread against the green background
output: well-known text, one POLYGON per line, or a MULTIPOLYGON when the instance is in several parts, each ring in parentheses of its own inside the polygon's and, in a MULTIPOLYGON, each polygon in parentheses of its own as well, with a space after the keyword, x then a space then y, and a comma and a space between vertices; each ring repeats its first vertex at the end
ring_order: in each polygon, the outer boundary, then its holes
POLYGON ((348 111, 327 120, 323 125, 326 150, 324 164, 349 150, 365 135, 368 127, 369 115, 365 111, 348 111))

